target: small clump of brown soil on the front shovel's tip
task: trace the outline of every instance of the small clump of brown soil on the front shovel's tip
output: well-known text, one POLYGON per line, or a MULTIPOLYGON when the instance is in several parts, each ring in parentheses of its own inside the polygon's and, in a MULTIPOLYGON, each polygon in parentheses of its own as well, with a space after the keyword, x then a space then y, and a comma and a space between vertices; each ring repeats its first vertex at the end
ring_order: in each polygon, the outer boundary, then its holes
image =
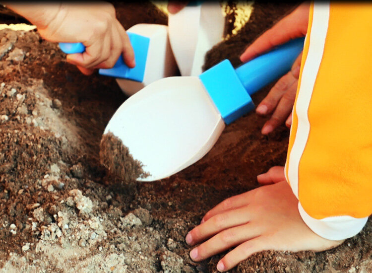
POLYGON ((146 178, 149 175, 143 171, 143 164, 133 158, 123 141, 111 132, 102 136, 100 159, 109 175, 124 183, 135 181, 137 178, 146 178))

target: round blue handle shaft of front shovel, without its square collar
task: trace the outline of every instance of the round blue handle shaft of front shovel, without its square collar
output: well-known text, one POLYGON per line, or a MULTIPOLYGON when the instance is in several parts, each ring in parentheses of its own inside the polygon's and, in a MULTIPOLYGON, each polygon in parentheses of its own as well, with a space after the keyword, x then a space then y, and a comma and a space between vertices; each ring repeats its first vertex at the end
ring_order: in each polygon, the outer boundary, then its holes
POLYGON ((235 71, 249 95, 291 70, 304 47, 305 38, 297 38, 265 53, 235 71))

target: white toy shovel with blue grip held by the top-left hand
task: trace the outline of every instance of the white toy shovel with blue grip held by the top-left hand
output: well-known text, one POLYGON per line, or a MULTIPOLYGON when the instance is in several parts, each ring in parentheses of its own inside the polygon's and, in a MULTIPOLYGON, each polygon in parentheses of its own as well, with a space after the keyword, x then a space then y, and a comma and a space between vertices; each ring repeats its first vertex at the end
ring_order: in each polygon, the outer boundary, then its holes
MULTIPOLYGON (((168 26, 136 24, 127 32, 134 50, 136 66, 128 68, 121 56, 111 69, 99 69, 101 75, 115 77, 123 92, 130 96, 150 83, 178 73, 168 38, 168 26)), ((82 43, 60 43, 64 53, 83 53, 82 43)))

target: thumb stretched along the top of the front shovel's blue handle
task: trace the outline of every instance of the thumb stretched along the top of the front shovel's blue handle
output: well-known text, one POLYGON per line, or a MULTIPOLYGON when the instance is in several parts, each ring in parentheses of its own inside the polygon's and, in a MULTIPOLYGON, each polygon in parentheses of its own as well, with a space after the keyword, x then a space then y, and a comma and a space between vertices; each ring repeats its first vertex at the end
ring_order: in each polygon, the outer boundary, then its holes
POLYGON ((281 19, 272 28, 259 36, 240 56, 242 62, 248 62, 254 57, 288 42, 291 39, 303 37, 308 30, 310 3, 304 2, 292 13, 281 19))

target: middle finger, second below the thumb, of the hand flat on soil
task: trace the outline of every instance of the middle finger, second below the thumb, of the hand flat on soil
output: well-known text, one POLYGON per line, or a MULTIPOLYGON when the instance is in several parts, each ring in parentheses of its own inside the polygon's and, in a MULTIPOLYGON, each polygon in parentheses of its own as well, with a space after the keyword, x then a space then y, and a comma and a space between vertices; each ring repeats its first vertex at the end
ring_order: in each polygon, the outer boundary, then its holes
POLYGON ((193 228, 186 235, 186 243, 194 245, 200 241, 217 234, 218 232, 234 226, 248 223, 250 218, 248 206, 228 210, 214 215, 207 221, 193 228))

